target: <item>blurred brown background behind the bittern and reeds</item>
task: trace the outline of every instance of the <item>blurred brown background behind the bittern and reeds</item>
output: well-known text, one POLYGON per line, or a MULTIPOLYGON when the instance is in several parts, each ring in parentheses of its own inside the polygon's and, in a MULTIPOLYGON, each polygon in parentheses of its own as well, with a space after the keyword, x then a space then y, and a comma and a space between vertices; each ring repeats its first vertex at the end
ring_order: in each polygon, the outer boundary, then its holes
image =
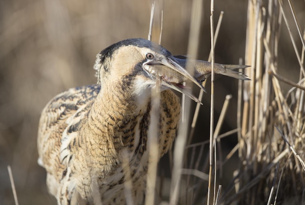
MULTIPOLYGON (((302 2, 297 7, 299 19, 305 19, 302 2)), ((214 6, 215 27, 220 11, 225 12, 215 61, 238 64, 238 58, 244 57, 245 51, 247 1, 223 0, 215 2, 214 6)), ((125 38, 147 38, 150 9, 150 0, 0 1, 1 205, 14 204, 8 165, 12 166, 19 204, 56 204, 47 193, 45 170, 37 164, 39 113, 57 93, 96 83, 93 65, 100 50, 125 38)), ((204 0, 203 9, 197 57, 207 60, 210 0, 204 0)), ((165 0, 161 44, 174 55, 187 54, 190 17, 191 0, 165 0)), ((299 74, 297 60, 286 30, 283 32, 281 38, 286 40, 282 40, 283 47, 279 50, 280 56, 285 58, 281 58, 280 63, 289 70, 288 78, 296 81, 293 76, 299 74), (289 43, 285 44, 286 41, 289 43), (291 58, 289 53, 292 53, 291 58), (294 67, 296 71, 290 70, 294 67)), ((216 76, 215 83, 215 117, 219 116, 226 94, 233 94, 223 131, 234 129, 237 80, 216 76)), ((200 129, 196 131, 194 142, 209 137, 209 81, 206 87, 208 94, 205 94, 200 126, 197 126, 200 129)), ((229 150, 236 137, 226 140, 224 150, 229 150)))

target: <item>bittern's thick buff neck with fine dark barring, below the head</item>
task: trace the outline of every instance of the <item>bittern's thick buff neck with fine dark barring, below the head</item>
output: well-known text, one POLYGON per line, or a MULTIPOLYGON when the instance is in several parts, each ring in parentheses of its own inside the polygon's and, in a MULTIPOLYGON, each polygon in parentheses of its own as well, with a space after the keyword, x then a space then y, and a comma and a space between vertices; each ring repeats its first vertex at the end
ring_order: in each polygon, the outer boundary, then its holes
MULTIPOLYGON (((104 87, 97 95, 88 115, 87 129, 84 129, 86 141, 92 149, 99 152, 94 159, 96 165, 120 163, 121 149, 134 152, 141 143, 141 122, 150 112, 150 94, 138 96, 131 94, 131 88, 121 86, 104 87), (106 157, 107 156, 107 157, 106 157)), ((111 169, 111 168, 110 168, 111 169)))

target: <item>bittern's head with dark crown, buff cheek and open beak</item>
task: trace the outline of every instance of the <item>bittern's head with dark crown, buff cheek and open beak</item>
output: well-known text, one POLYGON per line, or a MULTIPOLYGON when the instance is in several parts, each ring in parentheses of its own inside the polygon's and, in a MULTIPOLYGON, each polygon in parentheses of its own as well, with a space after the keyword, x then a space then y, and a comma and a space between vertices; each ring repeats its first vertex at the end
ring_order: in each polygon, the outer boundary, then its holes
MULTIPOLYGON (((142 38, 119 41, 96 56, 94 68, 98 84, 119 85, 132 95, 149 93, 158 82, 161 90, 172 88, 199 100, 183 86, 190 80, 201 86, 184 68, 186 65, 162 46, 142 38)), ((202 87, 203 88, 203 87, 202 87)))

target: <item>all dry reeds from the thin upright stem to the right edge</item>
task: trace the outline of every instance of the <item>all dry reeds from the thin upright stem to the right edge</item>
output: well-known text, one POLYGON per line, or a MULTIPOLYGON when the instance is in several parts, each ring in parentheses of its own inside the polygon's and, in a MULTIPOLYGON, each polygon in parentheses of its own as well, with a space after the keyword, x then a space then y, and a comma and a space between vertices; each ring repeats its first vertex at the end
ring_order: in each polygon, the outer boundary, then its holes
MULTIPOLYGON (((302 28, 291 1, 288 2, 290 11, 287 6, 284 7, 281 0, 269 0, 264 3, 266 5, 260 1, 248 2, 245 64, 251 65, 251 69, 247 69, 246 74, 252 81, 239 84, 237 111, 239 141, 223 160, 217 129, 222 123, 223 115, 221 114, 215 132, 210 130, 212 137, 209 160, 206 158, 205 166, 199 169, 201 173, 209 173, 209 184, 200 186, 197 181, 191 182, 190 176, 186 177, 188 183, 186 187, 181 187, 180 202, 182 204, 305 204, 303 161, 305 159, 303 143, 305 137, 305 35, 302 34, 302 28), (291 19, 289 21, 287 17, 289 12, 294 21, 291 19), (288 29, 294 54, 299 63, 300 75, 297 83, 279 74, 282 19, 285 21, 285 27, 288 29), (291 27, 297 28, 295 31, 298 31, 298 36, 293 35, 291 27), (296 37, 301 39, 295 39, 296 37), (301 48, 296 42, 301 42, 301 48), (279 80, 292 88, 285 93, 279 80), (238 152, 237 168, 231 182, 223 187, 222 193, 219 193, 222 190, 223 170, 230 166, 226 162, 230 160, 234 152, 238 152), (217 179, 218 177, 220 179, 217 179), (198 186, 206 188, 202 189, 198 186), (206 189, 208 189, 207 196, 203 197, 202 194, 206 193, 206 189), (213 197, 210 197, 211 194, 213 197)), ((211 19, 212 14, 211 8, 211 19)), ((213 76, 211 85, 210 116, 213 119, 213 76)), ((224 109, 222 113, 225 112, 224 109)), ((210 121, 210 125, 212 129, 213 120, 210 121)), ((201 150, 203 145, 201 144, 201 150)), ((192 148, 191 163, 186 163, 186 167, 190 170, 193 170, 191 168, 195 153, 195 147, 192 148)), ((195 170, 197 169, 198 166, 195 167, 195 170)))

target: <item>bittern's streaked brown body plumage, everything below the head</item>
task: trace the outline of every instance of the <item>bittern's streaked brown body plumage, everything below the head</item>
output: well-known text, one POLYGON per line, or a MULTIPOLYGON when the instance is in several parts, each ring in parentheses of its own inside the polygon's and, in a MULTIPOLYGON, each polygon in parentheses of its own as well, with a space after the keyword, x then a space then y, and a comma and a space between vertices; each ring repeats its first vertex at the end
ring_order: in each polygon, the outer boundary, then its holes
MULTIPOLYGON (((107 91, 112 93, 107 96, 98 95, 99 91, 99 85, 70 89, 57 95, 41 113, 38 151, 47 170, 48 188, 60 204, 80 204, 81 199, 91 204, 95 200, 94 188, 101 194, 103 205, 124 203, 120 151, 127 148, 133 197, 135 203, 141 203, 146 184, 151 102, 148 99, 146 109, 139 110, 133 103, 126 103, 124 97, 118 97, 122 93, 107 91), (106 100, 96 100, 99 96, 106 100), (118 114, 117 110, 125 112, 118 114)), ((169 90, 162 92, 160 157, 172 146, 179 114, 178 97, 169 90)))

